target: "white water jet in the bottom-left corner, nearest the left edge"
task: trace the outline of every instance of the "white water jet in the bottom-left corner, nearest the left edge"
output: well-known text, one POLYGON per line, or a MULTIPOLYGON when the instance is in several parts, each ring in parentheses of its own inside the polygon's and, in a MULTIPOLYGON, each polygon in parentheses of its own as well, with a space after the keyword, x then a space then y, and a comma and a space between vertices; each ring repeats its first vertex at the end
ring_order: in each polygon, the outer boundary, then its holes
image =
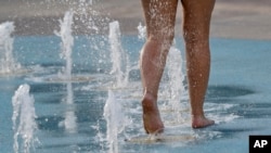
POLYGON ((15 91, 12 98, 13 105, 13 130, 14 130, 14 152, 17 153, 23 148, 24 153, 29 153, 34 148, 34 143, 38 141, 35 138, 35 131, 37 124, 35 118, 34 97, 29 94, 30 87, 28 85, 22 85, 15 91), (23 141, 22 146, 18 142, 23 141))

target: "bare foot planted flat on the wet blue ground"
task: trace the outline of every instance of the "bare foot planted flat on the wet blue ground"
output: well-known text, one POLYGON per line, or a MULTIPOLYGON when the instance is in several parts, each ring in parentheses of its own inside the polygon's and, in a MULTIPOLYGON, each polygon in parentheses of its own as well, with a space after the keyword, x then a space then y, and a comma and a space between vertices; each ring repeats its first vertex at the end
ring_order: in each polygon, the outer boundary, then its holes
POLYGON ((206 118, 205 116, 192 116, 193 128, 204 128, 214 125, 215 122, 206 118))

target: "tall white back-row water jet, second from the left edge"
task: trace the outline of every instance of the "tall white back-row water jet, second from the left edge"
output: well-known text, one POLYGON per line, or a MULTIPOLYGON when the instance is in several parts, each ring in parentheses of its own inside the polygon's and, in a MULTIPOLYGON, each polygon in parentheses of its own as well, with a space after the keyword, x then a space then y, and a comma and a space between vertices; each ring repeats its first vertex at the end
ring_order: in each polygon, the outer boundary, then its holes
POLYGON ((63 21, 60 21, 61 30, 55 31, 55 35, 62 39, 62 52, 61 58, 66 61, 66 66, 64 68, 64 74, 61 77, 64 79, 72 79, 72 69, 73 69, 73 47, 74 47, 74 37, 72 35, 72 25, 73 25, 73 11, 65 13, 63 21))

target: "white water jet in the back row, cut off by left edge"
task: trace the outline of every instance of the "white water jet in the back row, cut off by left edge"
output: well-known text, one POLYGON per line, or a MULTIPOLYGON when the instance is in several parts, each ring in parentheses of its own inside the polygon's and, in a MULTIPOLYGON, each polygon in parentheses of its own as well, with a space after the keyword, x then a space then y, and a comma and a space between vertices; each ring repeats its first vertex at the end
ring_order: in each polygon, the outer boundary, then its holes
POLYGON ((13 58, 13 41, 11 34, 14 31, 13 22, 0 24, 0 74, 12 74, 21 68, 13 58))

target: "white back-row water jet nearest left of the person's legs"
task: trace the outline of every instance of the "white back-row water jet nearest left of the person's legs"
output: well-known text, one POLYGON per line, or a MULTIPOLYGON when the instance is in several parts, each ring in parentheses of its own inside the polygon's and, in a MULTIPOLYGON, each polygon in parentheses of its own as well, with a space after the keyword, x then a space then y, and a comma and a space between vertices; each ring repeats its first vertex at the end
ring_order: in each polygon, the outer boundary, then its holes
POLYGON ((121 47, 120 29, 118 22, 109 23, 109 44, 111 44, 111 74, 115 76, 115 87, 126 87, 129 79, 129 58, 121 47))

